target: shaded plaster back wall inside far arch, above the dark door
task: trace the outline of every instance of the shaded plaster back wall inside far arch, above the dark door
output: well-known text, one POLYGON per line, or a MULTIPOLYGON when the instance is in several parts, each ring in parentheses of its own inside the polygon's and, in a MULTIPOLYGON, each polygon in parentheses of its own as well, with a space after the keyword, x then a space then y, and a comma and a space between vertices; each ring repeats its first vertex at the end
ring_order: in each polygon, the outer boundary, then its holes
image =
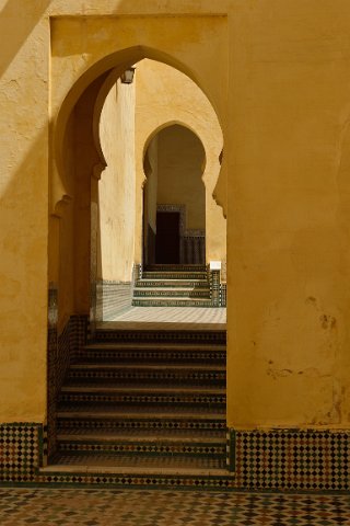
POLYGON ((184 126, 158 135, 158 203, 186 206, 186 229, 206 230, 205 149, 184 126))

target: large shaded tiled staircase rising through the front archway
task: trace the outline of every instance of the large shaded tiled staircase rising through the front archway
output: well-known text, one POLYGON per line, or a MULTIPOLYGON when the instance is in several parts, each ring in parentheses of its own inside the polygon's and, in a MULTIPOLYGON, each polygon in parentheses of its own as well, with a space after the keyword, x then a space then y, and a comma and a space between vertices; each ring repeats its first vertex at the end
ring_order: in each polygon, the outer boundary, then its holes
POLYGON ((50 469, 225 478, 225 428, 224 331, 100 330, 61 388, 50 469))

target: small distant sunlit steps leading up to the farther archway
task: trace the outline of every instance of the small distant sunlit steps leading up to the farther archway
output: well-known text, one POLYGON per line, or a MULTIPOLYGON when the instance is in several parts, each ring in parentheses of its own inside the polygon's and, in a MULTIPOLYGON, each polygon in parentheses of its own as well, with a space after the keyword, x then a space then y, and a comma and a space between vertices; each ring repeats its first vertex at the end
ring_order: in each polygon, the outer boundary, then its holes
POLYGON ((149 265, 133 288, 135 307, 211 307, 205 265, 149 265))

